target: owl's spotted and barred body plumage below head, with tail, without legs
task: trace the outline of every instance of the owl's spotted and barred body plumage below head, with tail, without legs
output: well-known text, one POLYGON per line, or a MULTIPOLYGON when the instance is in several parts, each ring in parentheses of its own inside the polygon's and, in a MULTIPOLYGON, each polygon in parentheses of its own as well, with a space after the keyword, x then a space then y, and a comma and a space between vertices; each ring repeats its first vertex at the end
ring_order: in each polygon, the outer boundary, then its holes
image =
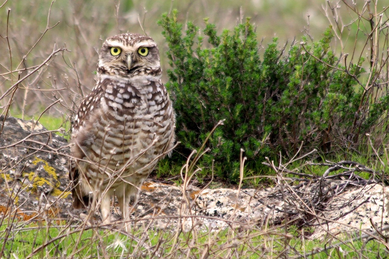
POLYGON ((101 163, 111 171, 118 165, 133 166, 135 170, 145 168, 147 177, 159 158, 170 154, 173 147, 175 115, 161 81, 116 81, 113 77, 105 75, 96 81, 75 116, 72 156, 78 165, 72 161, 69 177, 76 183, 73 196, 83 199, 74 200, 75 208, 88 205, 79 189, 79 169, 87 171, 91 163, 101 163), (131 159, 136 163, 126 165, 131 159), (151 163, 149 168, 147 163, 151 163))

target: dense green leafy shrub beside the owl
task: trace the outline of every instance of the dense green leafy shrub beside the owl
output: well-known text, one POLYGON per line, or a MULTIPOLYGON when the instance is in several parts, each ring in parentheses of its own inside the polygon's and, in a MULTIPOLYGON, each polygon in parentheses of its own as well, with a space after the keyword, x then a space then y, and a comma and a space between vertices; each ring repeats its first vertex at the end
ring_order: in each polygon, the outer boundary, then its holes
POLYGON ((159 21, 169 47, 166 86, 175 100, 179 153, 198 149, 225 119, 201 161, 209 167, 214 159, 219 177, 238 179, 241 148, 246 173, 259 173, 265 156, 293 155, 301 143, 304 151, 322 152, 354 145, 388 107, 386 96, 369 105, 363 89, 354 89, 363 60, 345 72, 330 49, 331 28, 319 42, 292 44, 289 51, 279 49, 275 38, 261 58, 249 20, 220 36, 215 25, 205 24, 208 48, 193 23, 182 34, 176 12, 159 21))

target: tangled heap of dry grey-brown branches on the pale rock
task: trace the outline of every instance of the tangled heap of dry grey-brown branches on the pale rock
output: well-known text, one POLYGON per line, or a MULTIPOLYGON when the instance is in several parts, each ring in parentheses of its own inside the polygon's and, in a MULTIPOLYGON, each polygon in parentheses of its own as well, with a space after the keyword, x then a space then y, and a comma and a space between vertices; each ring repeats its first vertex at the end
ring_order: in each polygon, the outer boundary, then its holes
MULTIPOLYGON (((268 198, 284 201, 284 205, 280 208, 277 205, 269 205, 268 201, 259 201, 268 208, 284 213, 286 215, 285 218, 289 219, 290 223, 297 224, 299 227, 317 226, 318 219, 321 218, 320 215, 322 215, 323 211, 342 211, 342 208, 349 205, 352 201, 361 198, 362 195, 352 196, 350 199, 344 200, 335 206, 333 203, 329 203, 334 197, 342 194, 347 187, 367 187, 370 184, 379 182, 379 174, 377 172, 353 161, 310 163, 310 165, 328 167, 322 176, 293 172, 287 170, 285 166, 275 166, 270 161, 263 164, 277 172, 277 187, 268 198), (340 170, 342 172, 334 173, 340 170), (366 180, 357 174, 359 172, 368 173, 371 177, 366 180), (333 174, 330 175, 330 173, 333 174), (293 177, 288 175, 293 175, 293 177)), ((366 191, 366 189, 361 189, 360 194, 363 194, 363 191, 366 191)), ((363 203, 359 203, 359 205, 363 203)), ((341 213, 338 215, 338 219, 356 209, 357 207, 354 207, 352 210, 341 213)))

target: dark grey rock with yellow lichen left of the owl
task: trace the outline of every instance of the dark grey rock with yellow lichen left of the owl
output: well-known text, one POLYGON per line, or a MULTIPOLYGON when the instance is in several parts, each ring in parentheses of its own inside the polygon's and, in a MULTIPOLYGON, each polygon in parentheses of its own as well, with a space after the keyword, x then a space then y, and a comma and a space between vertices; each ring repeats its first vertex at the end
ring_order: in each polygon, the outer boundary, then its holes
POLYGON ((13 205, 32 213, 67 198, 69 149, 65 138, 36 121, 4 115, 0 116, 0 132, 0 206, 13 205))

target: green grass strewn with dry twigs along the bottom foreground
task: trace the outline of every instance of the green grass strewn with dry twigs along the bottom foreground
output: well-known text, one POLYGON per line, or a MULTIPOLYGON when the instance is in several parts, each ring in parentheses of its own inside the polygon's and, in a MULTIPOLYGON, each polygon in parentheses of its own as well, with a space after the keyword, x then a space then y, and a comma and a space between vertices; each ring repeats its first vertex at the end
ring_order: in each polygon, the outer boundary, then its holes
MULTIPOLYGON (((0 226, 0 237, 7 232, 0 226)), ((263 231, 250 228, 221 231, 176 232, 137 229, 130 236, 107 229, 77 230, 68 225, 29 223, 13 226, 4 245, 2 258, 274 258, 308 255, 308 258, 385 258, 385 245, 373 239, 344 236, 342 240, 309 240, 290 228, 263 231), (135 240, 142 240, 138 243, 135 240), (339 245, 339 243, 342 243, 339 245), (327 249, 325 249, 327 248, 327 249), (237 256, 239 255, 239 256, 237 256)), ((309 232, 309 231, 308 231, 309 232)), ((306 232, 307 233, 307 232, 306 232)))

